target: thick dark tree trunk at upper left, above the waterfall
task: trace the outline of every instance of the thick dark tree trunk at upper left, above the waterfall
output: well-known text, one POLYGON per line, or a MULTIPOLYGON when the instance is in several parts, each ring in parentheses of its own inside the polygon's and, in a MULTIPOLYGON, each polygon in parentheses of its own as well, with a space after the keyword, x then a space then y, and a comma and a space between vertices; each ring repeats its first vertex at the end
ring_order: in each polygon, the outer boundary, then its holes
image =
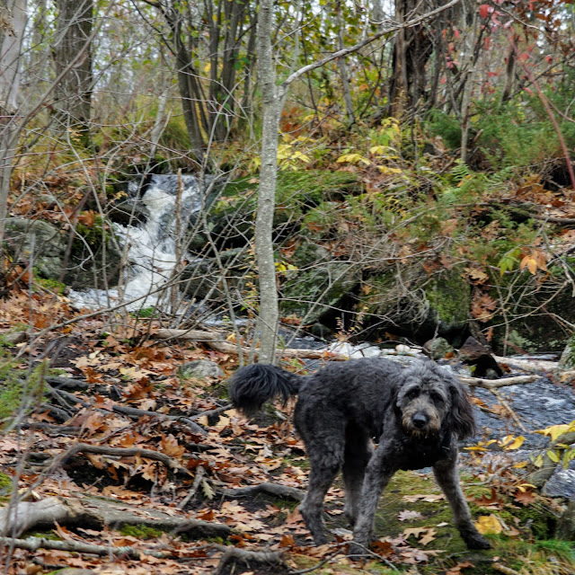
POLYGON ((69 66, 81 50, 83 57, 56 86, 56 117, 64 128, 81 130, 84 136, 92 107, 92 46, 86 40, 93 29, 93 0, 56 0, 57 33, 52 47, 56 74, 69 66))

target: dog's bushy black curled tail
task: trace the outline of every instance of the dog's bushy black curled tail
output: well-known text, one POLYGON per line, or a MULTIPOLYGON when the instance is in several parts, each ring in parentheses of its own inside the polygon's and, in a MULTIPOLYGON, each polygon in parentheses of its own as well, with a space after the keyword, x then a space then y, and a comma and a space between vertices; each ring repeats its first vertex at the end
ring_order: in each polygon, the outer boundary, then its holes
POLYGON ((251 416, 271 399, 280 397, 286 403, 297 394, 304 379, 281 367, 257 363, 240 367, 229 378, 228 387, 234 407, 251 416))

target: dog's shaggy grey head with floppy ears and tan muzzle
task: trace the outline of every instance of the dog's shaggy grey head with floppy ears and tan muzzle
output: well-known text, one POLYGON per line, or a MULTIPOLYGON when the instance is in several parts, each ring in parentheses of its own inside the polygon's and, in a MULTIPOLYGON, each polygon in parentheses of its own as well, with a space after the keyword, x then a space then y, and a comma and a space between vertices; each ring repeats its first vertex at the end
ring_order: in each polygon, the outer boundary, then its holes
POLYGON ((431 362, 405 369, 395 390, 394 410, 413 438, 437 437, 450 430, 463 439, 475 433, 473 408, 454 376, 431 362))

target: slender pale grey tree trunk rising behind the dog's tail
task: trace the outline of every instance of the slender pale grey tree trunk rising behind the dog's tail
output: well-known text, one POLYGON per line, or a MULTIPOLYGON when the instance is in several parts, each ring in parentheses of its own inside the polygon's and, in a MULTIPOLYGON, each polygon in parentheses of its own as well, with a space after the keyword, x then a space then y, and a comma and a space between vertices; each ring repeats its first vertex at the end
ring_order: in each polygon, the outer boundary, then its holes
POLYGON ((278 172, 279 91, 273 63, 271 33, 274 0, 262 0, 258 20, 258 73, 261 85, 261 172, 255 220, 255 252, 260 276, 260 362, 273 363, 279 320, 272 226, 278 172))

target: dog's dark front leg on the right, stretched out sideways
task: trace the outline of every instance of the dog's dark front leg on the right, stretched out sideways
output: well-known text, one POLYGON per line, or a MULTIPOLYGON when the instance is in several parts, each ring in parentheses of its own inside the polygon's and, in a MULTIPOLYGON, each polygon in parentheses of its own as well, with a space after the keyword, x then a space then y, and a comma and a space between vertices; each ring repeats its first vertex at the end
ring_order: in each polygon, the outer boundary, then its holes
POLYGON ((457 473, 457 452, 452 452, 446 459, 439 460, 433 466, 433 473, 439 487, 446 494, 447 501, 456 519, 456 526, 469 549, 489 549, 491 544, 473 525, 471 512, 457 473))

